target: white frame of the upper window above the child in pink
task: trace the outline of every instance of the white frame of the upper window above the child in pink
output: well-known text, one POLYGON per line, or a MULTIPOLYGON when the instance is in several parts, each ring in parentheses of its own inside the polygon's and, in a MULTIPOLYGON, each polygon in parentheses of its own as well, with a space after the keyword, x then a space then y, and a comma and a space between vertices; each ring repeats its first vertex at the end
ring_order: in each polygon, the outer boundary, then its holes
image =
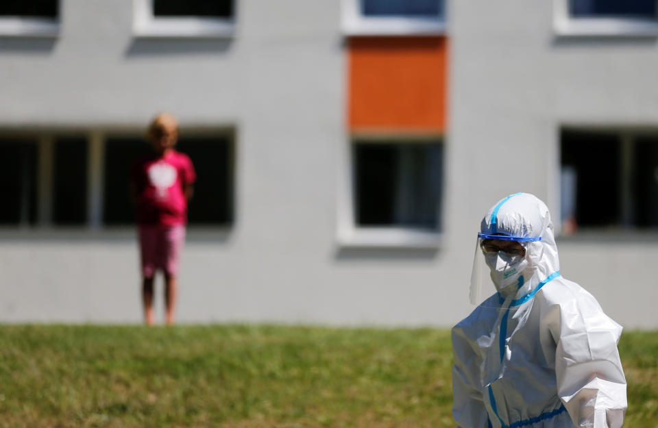
POLYGON ((154 16, 152 0, 133 0, 133 33, 145 38, 231 38, 235 32, 232 18, 154 16))

